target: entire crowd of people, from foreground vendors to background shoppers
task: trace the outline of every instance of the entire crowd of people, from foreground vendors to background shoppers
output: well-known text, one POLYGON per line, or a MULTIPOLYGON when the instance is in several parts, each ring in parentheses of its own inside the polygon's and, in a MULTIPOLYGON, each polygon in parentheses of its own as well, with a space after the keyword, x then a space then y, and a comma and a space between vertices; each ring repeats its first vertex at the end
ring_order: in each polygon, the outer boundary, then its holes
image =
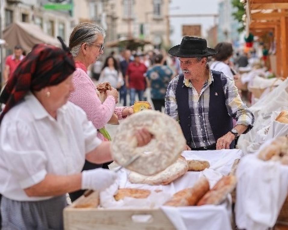
MULTIPOLYGON (((145 100, 146 88, 154 108, 164 107, 179 121, 183 149, 234 148, 235 138, 253 127, 254 116, 233 81, 230 44, 212 49, 205 39, 185 36, 168 51, 171 56, 131 56, 129 50, 120 60, 110 55, 94 75, 112 86, 101 102, 87 69, 104 53, 104 38, 101 27, 80 23, 68 47, 61 38, 62 48, 38 44, 8 77, 0 96, 2 229, 62 229, 66 193, 74 201, 85 189, 111 185, 116 174, 102 169, 113 160, 105 124, 113 114, 132 115, 136 94, 145 100), (124 106, 117 107, 121 100, 124 106)), ((152 139, 144 128, 135 135, 138 146, 152 139)))

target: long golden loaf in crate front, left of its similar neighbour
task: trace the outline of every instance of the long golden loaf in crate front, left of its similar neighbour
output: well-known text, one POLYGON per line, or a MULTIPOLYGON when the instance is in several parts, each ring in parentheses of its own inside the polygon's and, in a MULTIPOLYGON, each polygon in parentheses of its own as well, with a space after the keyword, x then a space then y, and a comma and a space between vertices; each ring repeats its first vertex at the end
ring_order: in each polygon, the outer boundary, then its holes
POLYGON ((164 205, 174 207, 195 205, 208 190, 209 182, 205 177, 202 177, 195 183, 193 188, 187 188, 176 192, 164 205))

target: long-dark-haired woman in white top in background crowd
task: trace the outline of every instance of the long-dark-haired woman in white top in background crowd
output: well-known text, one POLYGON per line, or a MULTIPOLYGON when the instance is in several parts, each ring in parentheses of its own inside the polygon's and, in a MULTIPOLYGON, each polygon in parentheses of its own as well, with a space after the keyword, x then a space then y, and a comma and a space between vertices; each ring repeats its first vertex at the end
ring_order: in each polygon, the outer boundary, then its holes
POLYGON ((124 85, 124 79, 118 63, 112 56, 106 58, 100 74, 99 83, 105 81, 108 81, 115 89, 120 89, 120 87, 124 85))

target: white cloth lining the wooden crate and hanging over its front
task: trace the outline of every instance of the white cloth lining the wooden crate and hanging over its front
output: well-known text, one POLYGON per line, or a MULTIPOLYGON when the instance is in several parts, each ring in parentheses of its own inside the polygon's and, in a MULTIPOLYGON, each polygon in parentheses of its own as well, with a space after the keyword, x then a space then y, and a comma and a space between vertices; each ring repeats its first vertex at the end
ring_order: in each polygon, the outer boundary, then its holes
MULTIPOLYGON (((127 179, 128 170, 122 169, 118 174, 118 183, 120 188, 139 188, 149 190, 162 190, 164 194, 173 195, 174 193, 193 187, 200 176, 205 175, 213 186, 222 175, 227 175, 235 159, 242 157, 243 153, 238 149, 223 149, 211 151, 184 151, 182 155, 186 159, 208 160, 210 169, 203 172, 188 171, 182 177, 174 180, 169 185, 151 186, 147 184, 133 184, 127 179)), ((105 193, 102 193, 102 196, 105 193)), ((107 195, 107 194, 106 194, 107 195)), ((101 199, 101 194, 100 194, 101 199)), ((132 199, 132 198, 131 198, 132 199)), ((139 199, 138 199, 139 200, 139 199)), ((142 201, 139 201, 142 202, 142 201)), ((118 203, 121 205, 121 203, 118 203)), ((228 196, 227 201, 221 205, 205 205, 201 207, 169 207, 161 206, 167 217, 179 230, 230 230, 231 199, 228 196)))

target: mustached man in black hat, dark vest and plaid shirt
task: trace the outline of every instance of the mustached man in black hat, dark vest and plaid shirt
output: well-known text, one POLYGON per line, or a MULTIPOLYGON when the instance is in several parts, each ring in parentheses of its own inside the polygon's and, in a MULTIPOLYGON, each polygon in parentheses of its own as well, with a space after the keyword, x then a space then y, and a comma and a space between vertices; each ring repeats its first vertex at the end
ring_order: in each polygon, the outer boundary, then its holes
POLYGON ((217 52, 207 48, 205 39, 185 36, 168 53, 179 57, 183 74, 167 87, 165 113, 179 120, 187 149, 234 148, 234 139, 253 127, 254 115, 234 81, 210 69, 207 57, 217 52), (237 120, 235 127, 232 118, 237 120))

